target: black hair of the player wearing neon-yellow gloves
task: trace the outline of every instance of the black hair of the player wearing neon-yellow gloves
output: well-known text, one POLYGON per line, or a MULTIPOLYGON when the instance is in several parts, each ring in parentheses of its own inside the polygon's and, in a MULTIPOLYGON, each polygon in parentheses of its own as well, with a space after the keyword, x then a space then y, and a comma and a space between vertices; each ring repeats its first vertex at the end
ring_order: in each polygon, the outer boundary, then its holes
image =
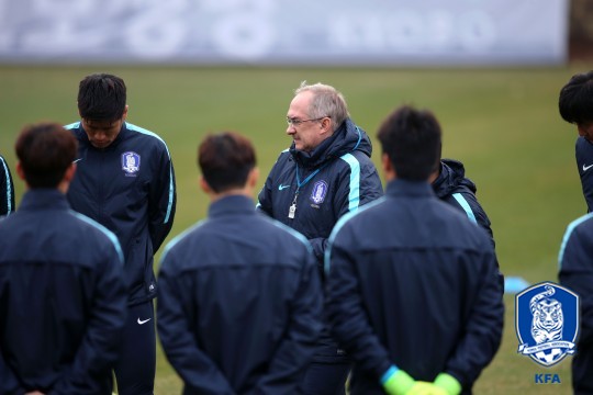
POLYGON ((441 131, 428 110, 411 105, 395 109, 383 121, 377 137, 400 179, 425 181, 439 166, 441 131))

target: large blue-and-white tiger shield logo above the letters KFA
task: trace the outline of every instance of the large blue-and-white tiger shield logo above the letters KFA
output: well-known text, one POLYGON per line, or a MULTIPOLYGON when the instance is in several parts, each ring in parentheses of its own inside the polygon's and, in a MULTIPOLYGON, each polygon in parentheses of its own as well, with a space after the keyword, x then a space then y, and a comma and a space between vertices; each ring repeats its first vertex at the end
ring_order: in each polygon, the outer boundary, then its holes
POLYGON ((579 295, 551 282, 530 286, 515 298, 517 352, 551 366, 574 353, 579 334, 579 295))

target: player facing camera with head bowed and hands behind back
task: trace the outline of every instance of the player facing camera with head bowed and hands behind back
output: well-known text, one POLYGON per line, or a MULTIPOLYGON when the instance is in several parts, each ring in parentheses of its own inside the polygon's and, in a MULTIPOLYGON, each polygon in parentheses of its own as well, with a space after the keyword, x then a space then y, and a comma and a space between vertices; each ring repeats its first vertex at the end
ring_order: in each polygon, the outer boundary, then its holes
POLYGON ((130 315, 115 376, 120 395, 142 395, 153 394, 156 370, 153 257, 172 226, 176 185, 167 145, 126 122, 127 110, 121 78, 96 74, 80 81, 81 121, 67 126, 79 143, 68 200, 120 239, 130 315))

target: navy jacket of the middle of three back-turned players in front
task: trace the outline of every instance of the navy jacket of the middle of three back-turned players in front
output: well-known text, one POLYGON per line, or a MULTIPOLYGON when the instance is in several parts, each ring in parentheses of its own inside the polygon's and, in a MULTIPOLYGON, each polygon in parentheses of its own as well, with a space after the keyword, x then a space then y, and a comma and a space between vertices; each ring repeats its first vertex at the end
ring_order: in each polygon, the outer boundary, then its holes
POLYGON ((158 332, 183 394, 298 394, 322 297, 302 235, 246 196, 212 203, 160 264, 158 332))

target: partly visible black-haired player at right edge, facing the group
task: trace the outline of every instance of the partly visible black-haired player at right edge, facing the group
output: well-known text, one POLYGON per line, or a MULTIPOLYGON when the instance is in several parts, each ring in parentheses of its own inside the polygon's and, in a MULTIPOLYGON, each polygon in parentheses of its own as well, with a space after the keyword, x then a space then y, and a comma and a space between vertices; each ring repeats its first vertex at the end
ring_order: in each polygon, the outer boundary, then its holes
POLYGON ((558 99, 560 116, 577 125, 574 147, 588 212, 593 211, 593 70, 577 74, 562 87, 558 99))

